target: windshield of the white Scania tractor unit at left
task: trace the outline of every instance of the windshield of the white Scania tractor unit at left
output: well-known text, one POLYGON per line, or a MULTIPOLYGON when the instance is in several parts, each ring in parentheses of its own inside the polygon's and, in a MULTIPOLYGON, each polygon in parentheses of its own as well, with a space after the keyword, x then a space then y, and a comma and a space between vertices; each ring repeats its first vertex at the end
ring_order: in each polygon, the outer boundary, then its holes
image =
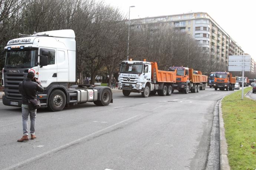
POLYGON ((7 51, 5 68, 31 68, 36 66, 38 50, 7 51))

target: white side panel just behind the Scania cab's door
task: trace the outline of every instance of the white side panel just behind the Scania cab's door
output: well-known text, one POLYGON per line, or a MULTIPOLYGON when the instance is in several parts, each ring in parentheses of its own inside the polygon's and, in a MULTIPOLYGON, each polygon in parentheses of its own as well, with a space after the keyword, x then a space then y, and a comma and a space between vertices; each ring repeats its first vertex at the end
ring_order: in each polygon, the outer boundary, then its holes
POLYGON ((66 51, 57 50, 57 82, 69 82, 69 64, 66 51))

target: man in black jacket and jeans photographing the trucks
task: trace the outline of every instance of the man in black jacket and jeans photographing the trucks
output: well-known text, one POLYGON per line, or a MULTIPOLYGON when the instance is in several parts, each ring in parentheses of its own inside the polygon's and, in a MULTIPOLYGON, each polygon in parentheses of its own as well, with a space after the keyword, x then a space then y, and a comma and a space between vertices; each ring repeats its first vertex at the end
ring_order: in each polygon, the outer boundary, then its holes
POLYGON ((43 87, 40 85, 39 79, 35 78, 34 72, 29 72, 25 81, 20 82, 19 92, 22 95, 22 126, 23 136, 17 142, 29 140, 29 133, 27 130, 27 120, 30 116, 30 135, 31 139, 35 139, 36 127, 36 109, 29 108, 29 100, 37 99, 37 91, 43 92, 43 87))

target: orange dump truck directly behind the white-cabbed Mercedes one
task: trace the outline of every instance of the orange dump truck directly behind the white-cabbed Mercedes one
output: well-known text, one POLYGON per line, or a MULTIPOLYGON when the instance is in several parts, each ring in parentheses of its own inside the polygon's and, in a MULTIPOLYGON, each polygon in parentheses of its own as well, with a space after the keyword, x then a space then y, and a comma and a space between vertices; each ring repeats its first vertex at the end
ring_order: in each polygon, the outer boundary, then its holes
POLYGON ((195 93, 205 90, 207 76, 202 75, 201 71, 193 71, 187 67, 170 67, 169 71, 177 70, 176 82, 173 85, 173 90, 188 94, 189 91, 195 93))

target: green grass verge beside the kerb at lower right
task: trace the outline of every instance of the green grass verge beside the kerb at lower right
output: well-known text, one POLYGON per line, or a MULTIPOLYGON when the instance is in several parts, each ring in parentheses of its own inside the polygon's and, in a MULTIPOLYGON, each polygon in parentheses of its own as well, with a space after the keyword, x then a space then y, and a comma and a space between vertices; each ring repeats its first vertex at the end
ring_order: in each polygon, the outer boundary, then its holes
MULTIPOLYGON (((244 89, 244 94, 252 88, 244 89)), ((244 97, 239 90, 222 100, 228 158, 231 169, 256 169, 256 101, 244 97)))

